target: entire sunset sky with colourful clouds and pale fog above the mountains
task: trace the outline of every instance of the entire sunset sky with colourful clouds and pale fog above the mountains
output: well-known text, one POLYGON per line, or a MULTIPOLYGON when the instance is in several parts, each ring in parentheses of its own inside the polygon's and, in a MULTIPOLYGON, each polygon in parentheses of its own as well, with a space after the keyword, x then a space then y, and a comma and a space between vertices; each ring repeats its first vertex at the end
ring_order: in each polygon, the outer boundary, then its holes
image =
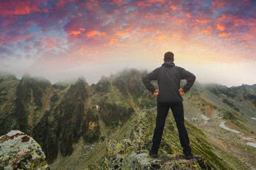
POLYGON ((97 83, 174 52, 203 83, 256 84, 255 0, 0 0, 0 71, 97 83))

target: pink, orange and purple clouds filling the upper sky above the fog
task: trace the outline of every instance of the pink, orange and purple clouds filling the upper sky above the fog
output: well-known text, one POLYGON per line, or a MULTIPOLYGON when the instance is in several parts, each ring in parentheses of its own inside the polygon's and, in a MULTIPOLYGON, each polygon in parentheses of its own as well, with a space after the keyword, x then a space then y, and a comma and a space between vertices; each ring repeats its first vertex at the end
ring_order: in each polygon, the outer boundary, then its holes
MULTIPOLYGON (((232 44, 237 45, 237 48, 241 45, 251 50, 255 44, 256 22, 247 17, 252 11, 249 10, 250 6, 242 2, 25 2, 9 3, 8 8, 0 7, 3 9, 0 16, 4 16, 1 20, 4 27, 0 28, 0 45, 9 45, 11 48, 16 44, 18 50, 27 53, 34 49, 41 57, 46 57, 49 50, 58 51, 56 49, 62 45, 66 47, 65 52, 71 54, 63 56, 65 61, 86 62, 95 55, 102 57, 122 47, 132 48, 135 44, 145 48, 150 45, 174 45, 172 47, 178 48, 178 44, 183 43, 180 47, 191 45, 203 49, 203 44, 216 42, 227 48, 232 44), (23 8, 17 7, 18 4, 23 8), (229 9, 229 6, 235 8, 229 9)), ((54 61, 58 61, 61 55, 55 57, 54 61)))

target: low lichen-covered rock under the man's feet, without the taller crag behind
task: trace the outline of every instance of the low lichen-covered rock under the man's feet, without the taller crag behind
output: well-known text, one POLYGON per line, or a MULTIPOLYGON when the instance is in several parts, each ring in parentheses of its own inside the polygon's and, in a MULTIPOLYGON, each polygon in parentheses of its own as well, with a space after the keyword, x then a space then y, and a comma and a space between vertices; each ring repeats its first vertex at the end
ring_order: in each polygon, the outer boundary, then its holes
POLYGON ((203 157, 186 160, 183 155, 159 154, 149 157, 149 151, 139 142, 110 140, 102 169, 211 169, 203 157))

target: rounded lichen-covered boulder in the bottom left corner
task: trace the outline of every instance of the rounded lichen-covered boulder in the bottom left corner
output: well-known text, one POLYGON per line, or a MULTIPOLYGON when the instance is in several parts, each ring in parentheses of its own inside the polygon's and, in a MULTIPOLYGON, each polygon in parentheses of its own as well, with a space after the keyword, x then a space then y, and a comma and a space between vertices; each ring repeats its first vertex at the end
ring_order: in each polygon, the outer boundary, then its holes
POLYGON ((48 169, 46 155, 32 137, 12 130, 0 137, 0 169, 48 169))

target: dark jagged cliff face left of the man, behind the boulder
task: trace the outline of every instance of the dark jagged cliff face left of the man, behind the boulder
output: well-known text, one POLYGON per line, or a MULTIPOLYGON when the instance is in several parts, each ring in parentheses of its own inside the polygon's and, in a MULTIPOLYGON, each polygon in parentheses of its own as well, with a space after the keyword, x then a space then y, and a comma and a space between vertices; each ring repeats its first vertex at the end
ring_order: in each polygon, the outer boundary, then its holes
MULTIPOLYGON (((139 72, 132 74, 129 81, 134 86, 141 84, 137 79, 139 72)), ((134 114, 136 107, 126 82, 129 76, 113 80, 103 77, 98 84, 89 86, 82 78, 74 84, 51 85, 46 79, 29 75, 18 80, 3 74, 0 134, 14 129, 30 134, 40 143, 50 163, 58 154, 70 155, 78 140, 86 144, 99 140, 100 121, 114 130, 134 114)))

